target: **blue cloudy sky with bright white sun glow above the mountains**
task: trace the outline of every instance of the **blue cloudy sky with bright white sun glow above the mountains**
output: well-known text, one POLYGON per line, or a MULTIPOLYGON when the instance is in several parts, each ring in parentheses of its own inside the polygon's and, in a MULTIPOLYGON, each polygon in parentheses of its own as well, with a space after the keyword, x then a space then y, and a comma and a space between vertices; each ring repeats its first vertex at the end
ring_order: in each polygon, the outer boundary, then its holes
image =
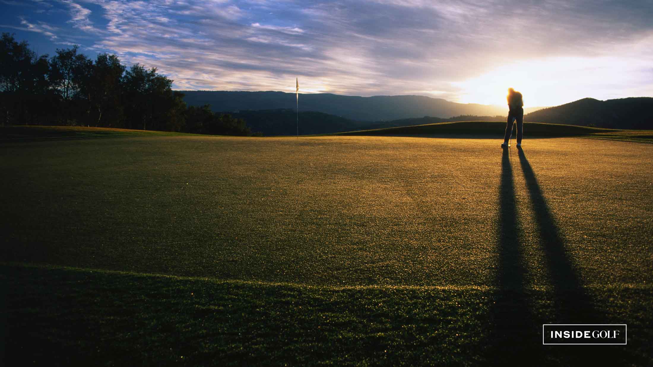
POLYGON ((0 0, 40 55, 155 67, 178 90, 424 95, 524 107, 653 96, 653 0, 0 0))

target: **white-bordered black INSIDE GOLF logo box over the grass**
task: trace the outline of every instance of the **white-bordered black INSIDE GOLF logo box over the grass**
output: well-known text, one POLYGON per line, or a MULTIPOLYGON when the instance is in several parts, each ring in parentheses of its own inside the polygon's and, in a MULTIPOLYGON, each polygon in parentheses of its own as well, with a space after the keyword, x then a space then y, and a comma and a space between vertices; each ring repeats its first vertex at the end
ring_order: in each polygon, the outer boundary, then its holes
POLYGON ((542 344, 626 344, 626 324, 544 324, 542 344))

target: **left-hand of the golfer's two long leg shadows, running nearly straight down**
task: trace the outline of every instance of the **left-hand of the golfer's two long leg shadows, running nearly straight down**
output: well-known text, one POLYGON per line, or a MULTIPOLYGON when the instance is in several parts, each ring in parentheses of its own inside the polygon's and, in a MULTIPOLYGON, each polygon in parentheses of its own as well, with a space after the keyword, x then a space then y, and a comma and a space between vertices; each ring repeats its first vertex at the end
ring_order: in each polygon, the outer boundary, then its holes
POLYGON ((526 366, 539 360, 537 340, 540 336, 534 327, 535 318, 526 293, 526 268, 518 239, 520 225, 508 149, 503 149, 501 167, 497 292, 490 315, 490 346, 486 360, 489 365, 526 366))

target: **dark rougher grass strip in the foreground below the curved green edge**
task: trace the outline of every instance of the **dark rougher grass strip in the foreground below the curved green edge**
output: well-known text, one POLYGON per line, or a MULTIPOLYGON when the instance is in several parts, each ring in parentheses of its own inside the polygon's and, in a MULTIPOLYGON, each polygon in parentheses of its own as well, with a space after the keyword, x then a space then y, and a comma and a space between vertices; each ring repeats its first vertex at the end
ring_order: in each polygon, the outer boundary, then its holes
MULTIPOLYGON (((642 301, 650 287, 588 289, 609 311, 606 323, 628 323, 627 346, 561 347, 541 345, 541 323, 515 330, 488 319, 497 293, 487 287, 315 287, 0 269, 8 365, 470 366, 515 362, 515 347, 531 353, 536 366, 571 365, 603 351, 618 353, 620 365, 653 362, 650 304, 642 301), (499 332, 520 344, 489 348, 499 332)), ((536 305, 535 321, 549 317, 547 289, 524 295, 536 305)))

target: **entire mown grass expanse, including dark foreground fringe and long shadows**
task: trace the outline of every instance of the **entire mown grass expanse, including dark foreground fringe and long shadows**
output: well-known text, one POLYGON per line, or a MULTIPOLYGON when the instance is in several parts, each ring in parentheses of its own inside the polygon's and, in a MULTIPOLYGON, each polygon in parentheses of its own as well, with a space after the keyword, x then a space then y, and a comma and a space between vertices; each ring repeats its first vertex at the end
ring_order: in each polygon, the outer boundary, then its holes
POLYGON ((8 358, 651 364, 653 146, 499 143, 3 143, 8 358), (541 345, 578 320, 629 344, 541 345))

